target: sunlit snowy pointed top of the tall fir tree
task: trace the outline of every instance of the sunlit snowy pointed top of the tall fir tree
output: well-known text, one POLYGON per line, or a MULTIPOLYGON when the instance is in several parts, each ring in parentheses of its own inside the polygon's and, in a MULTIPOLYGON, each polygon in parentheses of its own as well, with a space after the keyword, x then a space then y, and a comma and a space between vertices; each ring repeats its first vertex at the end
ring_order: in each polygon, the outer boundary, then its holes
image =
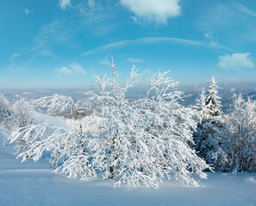
POLYGON ((216 118, 222 115, 221 111, 221 97, 218 95, 219 87, 216 85, 215 77, 211 77, 211 81, 208 86, 208 96, 206 100, 206 107, 208 118, 216 118))

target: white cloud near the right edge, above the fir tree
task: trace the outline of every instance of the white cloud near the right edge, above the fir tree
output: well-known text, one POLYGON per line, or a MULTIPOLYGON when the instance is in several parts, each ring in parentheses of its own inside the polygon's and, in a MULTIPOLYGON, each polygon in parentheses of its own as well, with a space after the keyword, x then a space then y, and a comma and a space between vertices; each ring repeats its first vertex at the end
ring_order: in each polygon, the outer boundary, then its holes
POLYGON ((251 54, 249 52, 220 56, 218 66, 225 70, 242 70, 254 68, 251 54))

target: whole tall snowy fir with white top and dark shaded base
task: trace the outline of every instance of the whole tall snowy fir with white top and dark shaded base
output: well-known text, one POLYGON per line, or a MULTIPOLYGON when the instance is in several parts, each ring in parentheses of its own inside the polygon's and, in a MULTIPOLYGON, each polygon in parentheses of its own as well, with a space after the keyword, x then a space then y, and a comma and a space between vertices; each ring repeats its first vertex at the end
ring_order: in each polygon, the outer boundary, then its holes
POLYGON ((218 96, 217 88, 215 77, 212 77, 206 100, 204 93, 200 94, 200 107, 197 106, 200 118, 197 123, 197 131, 194 133, 194 140, 199 156, 212 165, 215 170, 221 171, 227 158, 221 147, 225 128, 221 119, 221 97, 218 96))

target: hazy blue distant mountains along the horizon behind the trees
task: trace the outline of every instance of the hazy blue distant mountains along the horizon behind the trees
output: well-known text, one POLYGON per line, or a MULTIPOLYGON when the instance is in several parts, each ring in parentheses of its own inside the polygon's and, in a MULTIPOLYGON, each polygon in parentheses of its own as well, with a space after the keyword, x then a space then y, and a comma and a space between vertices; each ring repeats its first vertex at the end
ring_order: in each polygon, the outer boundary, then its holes
MULTIPOLYGON (((192 106, 196 104, 196 99, 199 97, 201 88, 192 87, 192 88, 177 88, 184 92, 184 100, 179 102, 184 106, 192 106)), ((90 89, 70 89, 70 90, 30 90, 30 91, 21 91, 21 90, 12 90, 12 91, 2 91, 2 93, 7 97, 9 101, 17 100, 24 98, 28 101, 33 101, 39 99, 43 96, 50 96, 53 94, 63 94, 66 96, 72 96, 73 100, 78 101, 82 99, 88 99, 90 89)), ((247 99, 247 96, 253 100, 256 100, 256 87, 255 88, 220 88, 219 95, 222 97, 222 110, 227 112, 229 105, 232 103, 234 94, 242 94, 244 99, 247 99)), ((141 97, 145 97, 147 93, 147 87, 141 86, 137 88, 130 88, 128 90, 127 98, 131 100, 136 100, 141 97)))

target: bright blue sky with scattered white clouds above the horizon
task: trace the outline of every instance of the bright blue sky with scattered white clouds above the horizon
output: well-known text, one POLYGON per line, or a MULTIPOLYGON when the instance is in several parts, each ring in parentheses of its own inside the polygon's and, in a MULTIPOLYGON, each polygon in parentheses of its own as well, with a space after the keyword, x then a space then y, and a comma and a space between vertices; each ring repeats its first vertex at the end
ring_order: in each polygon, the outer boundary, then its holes
POLYGON ((1 0, 0 89, 85 88, 135 64, 181 85, 255 82, 254 0, 1 0))

